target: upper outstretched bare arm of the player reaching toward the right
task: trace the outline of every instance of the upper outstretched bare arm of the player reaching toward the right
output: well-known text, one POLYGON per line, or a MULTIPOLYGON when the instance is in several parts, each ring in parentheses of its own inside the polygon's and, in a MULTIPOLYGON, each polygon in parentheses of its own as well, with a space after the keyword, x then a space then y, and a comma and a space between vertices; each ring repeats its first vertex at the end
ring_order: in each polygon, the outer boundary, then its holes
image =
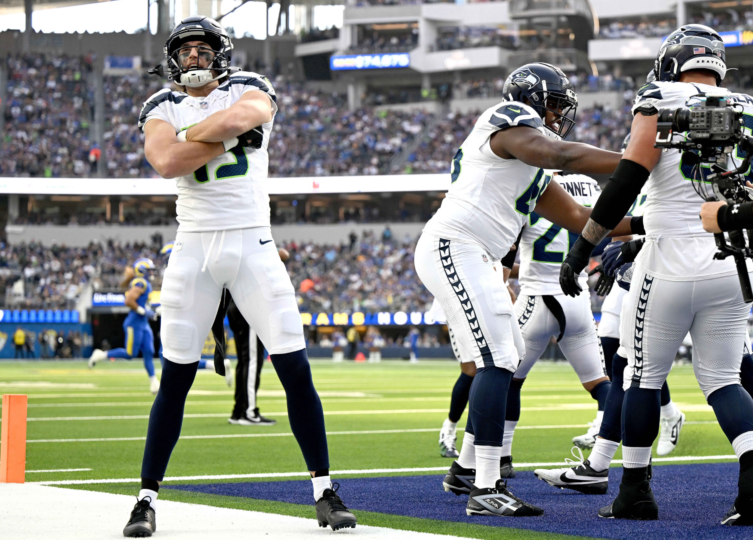
POLYGON ((492 152, 503 159, 517 158, 526 165, 559 168, 581 174, 609 174, 622 154, 590 144, 557 141, 535 129, 516 126, 503 129, 489 140, 492 152))

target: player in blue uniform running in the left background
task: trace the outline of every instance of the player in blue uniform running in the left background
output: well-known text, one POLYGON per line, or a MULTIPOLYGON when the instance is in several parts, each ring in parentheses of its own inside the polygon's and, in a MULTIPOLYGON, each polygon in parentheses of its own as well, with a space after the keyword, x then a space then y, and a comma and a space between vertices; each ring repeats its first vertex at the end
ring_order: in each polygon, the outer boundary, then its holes
POLYGON ((149 326, 149 319, 154 317, 154 311, 149 305, 151 293, 151 279, 154 278, 154 262, 151 259, 137 259, 133 263, 133 278, 128 284, 126 301, 131 311, 123 321, 123 331, 126 332, 125 347, 102 350, 94 349, 89 358, 89 367, 108 358, 132 359, 141 351, 144 357, 144 367, 149 375, 149 390, 156 394, 160 390, 160 381, 154 375, 154 332, 149 326))

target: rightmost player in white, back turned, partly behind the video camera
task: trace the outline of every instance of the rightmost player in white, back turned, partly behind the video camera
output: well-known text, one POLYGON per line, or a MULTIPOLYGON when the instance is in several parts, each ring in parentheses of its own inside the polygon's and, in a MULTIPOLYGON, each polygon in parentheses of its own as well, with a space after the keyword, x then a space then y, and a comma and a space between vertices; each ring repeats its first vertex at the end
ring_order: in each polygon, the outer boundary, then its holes
POLYGON ((753 114, 750 96, 719 89, 727 71, 724 58, 724 42, 707 26, 682 26, 664 41, 654 63, 657 80, 639 90, 633 105, 624 157, 562 264, 562 290, 578 294, 575 275, 593 246, 625 214, 630 206, 625 202, 648 185, 646 244, 623 302, 620 331, 628 360, 623 477, 617 498, 599 510, 602 517, 658 518, 648 467, 659 424, 660 388, 689 331, 694 372, 740 463, 738 495, 722 523, 753 523, 753 399, 739 378, 750 306, 742 299, 735 262, 713 259, 717 248, 698 219, 704 201, 691 181, 691 165, 676 150, 654 148, 657 111, 694 105, 694 96, 721 91, 733 97, 744 115, 753 114))

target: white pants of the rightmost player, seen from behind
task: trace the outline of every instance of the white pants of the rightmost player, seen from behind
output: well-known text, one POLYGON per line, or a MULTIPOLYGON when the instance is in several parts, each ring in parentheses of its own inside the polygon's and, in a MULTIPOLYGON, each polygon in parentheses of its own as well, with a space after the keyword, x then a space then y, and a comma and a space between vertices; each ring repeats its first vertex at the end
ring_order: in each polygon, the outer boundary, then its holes
POLYGON ((666 281, 639 267, 623 308, 625 390, 660 389, 688 331, 693 338, 693 370, 704 396, 739 384, 750 305, 742 301, 736 275, 666 281))

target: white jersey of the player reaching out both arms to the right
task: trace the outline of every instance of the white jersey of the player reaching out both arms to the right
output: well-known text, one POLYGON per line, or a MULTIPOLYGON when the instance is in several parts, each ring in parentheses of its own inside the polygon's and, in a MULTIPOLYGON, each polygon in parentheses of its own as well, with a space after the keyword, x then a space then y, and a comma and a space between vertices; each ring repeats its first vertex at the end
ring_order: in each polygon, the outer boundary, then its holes
POLYGON ((484 111, 455 154, 450 190, 424 232, 480 245, 493 260, 508 253, 551 180, 542 168, 492 152, 489 138, 509 126, 529 126, 556 137, 523 103, 501 102, 484 111))

